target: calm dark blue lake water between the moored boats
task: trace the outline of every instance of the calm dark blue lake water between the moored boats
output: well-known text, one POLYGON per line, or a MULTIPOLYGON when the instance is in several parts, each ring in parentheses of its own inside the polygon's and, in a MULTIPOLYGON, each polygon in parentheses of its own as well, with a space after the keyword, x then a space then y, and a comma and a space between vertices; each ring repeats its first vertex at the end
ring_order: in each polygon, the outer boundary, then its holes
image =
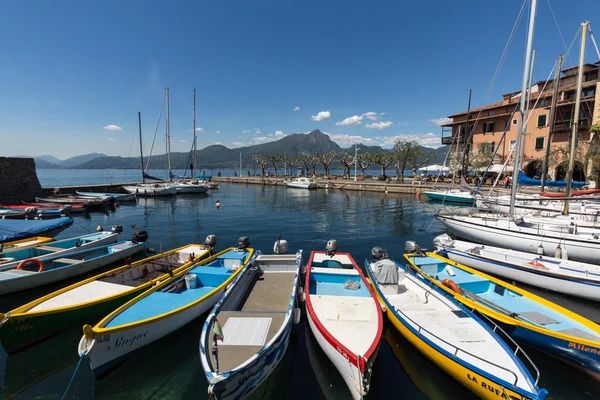
MULTIPOLYGON (((46 178, 40 174, 40 179, 46 178)), ((121 224, 123 239, 130 238, 136 229, 145 229, 150 235, 148 246, 156 250, 201 243, 207 235, 216 234, 218 248, 235 245, 240 236, 249 236, 253 247, 270 253, 281 234, 288 240, 290 250, 303 249, 305 258, 310 250, 322 250, 328 239, 337 239, 340 251, 350 251, 362 264, 376 245, 385 246, 392 258, 402 257, 404 242, 409 239, 417 240, 422 247, 431 247, 433 237, 443 232, 441 225, 432 224, 432 215, 438 208, 439 204, 409 195, 221 184, 220 190, 209 195, 142 198, 137 205, 123 204, 105 213, 75 216, 73 226, 57 238, 85 234, 98 225, 108 229, 121 224), (217 199, 222 202, 220 209, 214 206, 217 199)), ((78 279, 3 296, 0 311, 6 312, 78 279)), ((535 292, 600 321, 596 303, 541 290, 535 292)), ((198 356, 202 323, 200 318, 140 349, 100 381, 94 379, 88 361, 83 360, 66 398, 207 398, 206 379, 198 356)), ((391 324, 386 325, 384 332, 369 398, 475 398, 422 356, 391 324)), ((1 398, 60 399, 79 359, 76 348, 80 337, 81 327, 75 327, 10 357, 0 351, 1 398)), ((596 381, 533 349, 528 349, 528 353, 540 368, 540 386, 547 388, 553 399, 600 398, 600 385, 596 381)), ((348 399, 350 396, 302 321, 295 328, 283 361, 251 398, 348 399)))

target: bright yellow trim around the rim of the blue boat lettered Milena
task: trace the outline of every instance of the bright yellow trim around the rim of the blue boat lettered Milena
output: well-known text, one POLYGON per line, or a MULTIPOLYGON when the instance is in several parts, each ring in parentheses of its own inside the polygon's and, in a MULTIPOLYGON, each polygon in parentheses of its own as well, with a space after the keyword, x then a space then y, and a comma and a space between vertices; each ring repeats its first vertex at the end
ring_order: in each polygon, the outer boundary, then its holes
MULTIPOLYGON (((459 264, 457 262, 454 262, 452 260, 444 258, 444 257, 442 257, 442 256, 440 256, 438 254, 429 253, 428 252, 428 253, 426 253, 426 255, 429 256, 429 257, 437 258, 440 261, 443 261, 443 262, 445 262, 447 264, 450 264, 452 266, 460 268, 460 269, 462 269, 462 270, 464 270, 466 272, 472 273, 474 275, 481 276, 482 278, 485 278, 485 279, 489 279, 491 282, 493 282, 493 283, 495 283, 495 284, 497 284, 499 286, 504 286, 508 290, 512 290, 515 293, 518 293, 518 294, 522 295, 525 298, 533 300, 533 301, 535 301, 535 302, 537 302, 537 303, 539 303, 539 304, 541 304, 543 306, 546 306, 546 307, 548 307, 548 308, 550 308, 550 309, 552 309, 552 310, 554 310, 554 311, 556 311, 558 313, 561 313, 561 314, 563 314, 563 315, 565 315, 565 316, 567 316, 567 317, 575 320, 576 322, 579 322, 580 324, 584 325, 588 329, 591 329, 592 331, 596 332, 600 336, 600 326, 598 326, 594 322, 590 321, 589 319, 587 319, 585 317, 582 317, 581 315, 579 315, 577 313, 574 313, 573 311, 570 311, 570 310, 568 310, 568 309, 566 309, 564 307, 559 306, 556 303, 548 301, 548 300, 546 300, 546 299, 544 299, 544 298, 542 298, 540 296, 537 296, 537 295, 535 295, 535 294, 533 294, 531 292, 528 292, 527 290, 523 290, 523 289, 518 288, 518 287, 516 287, 514 285, 511 285, 508 282, 505 282, 503 280, 494 278, 491 275, 485 274, 485 273, 483 273, 481 271, 478 271, 476 269, 469 268, 466 265, 459 264)), ((414 262, 412 261, 410 254, 404 254, 404 258, 406 258, 408 260, 408 262, 414 268, 416 268, 417 270, 421 271, 421 269, 419 267, 417 267, 414 264, 414 262)), ((437 280, 432 279, 427 274, 421 273, 421 275, 425 276, 429 281, 435 283, 438 287, 442 288, 446 292, 452 294, 454 296, 454 298, 456 298, 456 300, 458 300, 461 303, 465 304, 467 307, 476 309, 476 310, 484 313, 485 315, 487 315, 487 316, 489 316, 489 317, 491 317, 493 319, 496 319, 498 321, 502 321, 502 322, 504 322, 506 324, 509 324, 509 325, 522 326, 523 328, 527 328, 527 329, 530 329, 532 331, 535 331, 535 332, 538 332, 538 333, 541 333, 541 334, 544 334, 544 335, 552 336, 552 337, 555 337, 557 339, 562 339, 562 340, 566 340, 566 341, 570 341, 570 342, 577 342, 577 343, 581 343, 581 344, 584 344, 584 345, 587 345, 587 346, 600 347, 600 341, 595 341, 595 340, 590 340, 590 339, 584 339, 584 338, 580 338, 580 337, 573 336, 573 335, 566 335, 564 333, 555 332, 555 331, 552 331, 550 329, 546 329, 546 328, 540 327, 538 325, 534 325, 534 324, 531 324, 529 322, 526 322, 526 321, 523 321, 523 320, 519 320, 519 319, 516 319, 516 318, 512 318, 512 317, 510 317, 510 316, 508 316, 506 314, 494 311, 493 309, 491 309, 489 307, 486 307, 486 306, 482 305, 481 303, 474 302, 474 301, 466 298, 465 296, 460 295, 460 294, 454 292, 452 289, 447 288, 446 286, 442 285, 441 282, 438 282, 437 280)))

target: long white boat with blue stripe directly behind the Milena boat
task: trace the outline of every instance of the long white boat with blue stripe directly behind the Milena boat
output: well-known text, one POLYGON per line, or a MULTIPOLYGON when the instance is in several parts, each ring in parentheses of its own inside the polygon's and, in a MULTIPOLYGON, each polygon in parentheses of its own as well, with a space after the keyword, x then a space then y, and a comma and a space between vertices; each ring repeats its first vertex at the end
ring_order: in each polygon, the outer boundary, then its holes
POLYGON ((452 261, 517 282, 600 301, 600 266, 500 247, 452 240, 443 234, 433 243, 452 261))

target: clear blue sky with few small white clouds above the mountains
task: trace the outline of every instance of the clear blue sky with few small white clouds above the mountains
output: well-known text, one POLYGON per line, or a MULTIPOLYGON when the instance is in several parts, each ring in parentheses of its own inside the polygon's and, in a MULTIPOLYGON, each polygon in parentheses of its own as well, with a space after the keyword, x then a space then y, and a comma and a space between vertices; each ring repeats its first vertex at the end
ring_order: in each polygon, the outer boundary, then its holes
MULTIPOLYGON (((550 4, 567 46, 584 19, 600 32, 600 20, 592 19, 600 1, 550 4)), ((317 128, 342 146, 389 147, 396 137, 439 146, 441 130, 432 121, 466 109, 469 88, 473 106, 483 104, 521 6, 521 0, 3 2, 0 155, 137 155, 137 111, 149 143, 167 86, 172 151, 191 145, 194 87, 200 148, 317 128)), ((539 1, 537 21, 535 78, 544 79, 565 49, 548 0, 539 1)), ((520 88, 525 25, 487 103, 520 88)), ((567 66, 577 62, 577 50, 578 44, 567 66)), ((587 61, 597 60, 590 44, 587 61)))

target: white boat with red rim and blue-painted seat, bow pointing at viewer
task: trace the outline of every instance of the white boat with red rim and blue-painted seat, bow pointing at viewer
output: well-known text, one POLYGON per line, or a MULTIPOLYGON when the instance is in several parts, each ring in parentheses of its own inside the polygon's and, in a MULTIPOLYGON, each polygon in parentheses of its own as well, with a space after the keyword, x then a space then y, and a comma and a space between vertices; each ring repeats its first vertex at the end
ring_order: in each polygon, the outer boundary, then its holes
POLYGON ((310 329, 338 369, 354 399, 369 392, 383 329, 381 308, 348 253, 313 251, 306 271, 306 314, 310 329))

